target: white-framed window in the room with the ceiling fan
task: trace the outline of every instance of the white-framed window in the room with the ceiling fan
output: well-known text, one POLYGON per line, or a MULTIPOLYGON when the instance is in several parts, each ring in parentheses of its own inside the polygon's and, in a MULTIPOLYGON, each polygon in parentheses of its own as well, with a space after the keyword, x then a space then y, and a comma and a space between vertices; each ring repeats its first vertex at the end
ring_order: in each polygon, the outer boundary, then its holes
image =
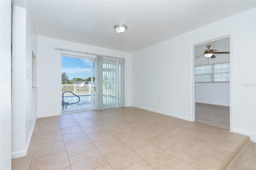
POLYGON ((199 65, 195 67, 196 83, 229 82, 230 63, 199 65))

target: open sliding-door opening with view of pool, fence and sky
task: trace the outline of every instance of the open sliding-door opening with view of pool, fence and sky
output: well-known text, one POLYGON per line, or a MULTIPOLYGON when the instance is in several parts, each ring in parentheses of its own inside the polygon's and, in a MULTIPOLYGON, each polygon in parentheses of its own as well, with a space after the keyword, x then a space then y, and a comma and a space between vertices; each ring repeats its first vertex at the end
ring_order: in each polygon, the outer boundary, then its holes
POLYGON ((96 59, 62 55, 62 113, 95 110, 96 59))

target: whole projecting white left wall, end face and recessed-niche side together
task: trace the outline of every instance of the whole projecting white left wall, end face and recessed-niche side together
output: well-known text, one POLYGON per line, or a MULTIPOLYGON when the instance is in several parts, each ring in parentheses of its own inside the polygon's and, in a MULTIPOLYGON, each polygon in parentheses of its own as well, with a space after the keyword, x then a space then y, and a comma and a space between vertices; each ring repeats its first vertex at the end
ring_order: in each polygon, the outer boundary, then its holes
POLYGON ((37 42, 31 17, 30 11, 13 6, 12 158, 26 155, 36 123, 36 90, 32 89, 32 51, 37 55, 37 42))

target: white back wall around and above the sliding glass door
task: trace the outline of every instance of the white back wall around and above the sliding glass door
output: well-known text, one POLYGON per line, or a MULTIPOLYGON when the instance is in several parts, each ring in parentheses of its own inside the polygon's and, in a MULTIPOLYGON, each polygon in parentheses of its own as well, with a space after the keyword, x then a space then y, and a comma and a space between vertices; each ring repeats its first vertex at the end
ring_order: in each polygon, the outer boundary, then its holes
MULTIPOLYGON (((125 58, 125 105, 131 105, 131 54, 90 45, 66 42, 38 36, 38 107, 37 117, 61 114, 61 53, 88 56, 83 53, 60 51, 54 47, 125 58)), ((91 55, 90 57, 96 57, 91 55)))

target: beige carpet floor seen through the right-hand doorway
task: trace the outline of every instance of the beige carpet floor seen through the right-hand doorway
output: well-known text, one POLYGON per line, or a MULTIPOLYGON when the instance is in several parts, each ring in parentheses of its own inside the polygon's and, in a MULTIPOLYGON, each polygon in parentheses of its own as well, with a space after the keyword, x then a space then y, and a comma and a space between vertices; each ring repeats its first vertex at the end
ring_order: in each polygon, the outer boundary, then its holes
POLYGON ((215 127, 230 129, 229 106, 196 103, 196 121, 215 127))

